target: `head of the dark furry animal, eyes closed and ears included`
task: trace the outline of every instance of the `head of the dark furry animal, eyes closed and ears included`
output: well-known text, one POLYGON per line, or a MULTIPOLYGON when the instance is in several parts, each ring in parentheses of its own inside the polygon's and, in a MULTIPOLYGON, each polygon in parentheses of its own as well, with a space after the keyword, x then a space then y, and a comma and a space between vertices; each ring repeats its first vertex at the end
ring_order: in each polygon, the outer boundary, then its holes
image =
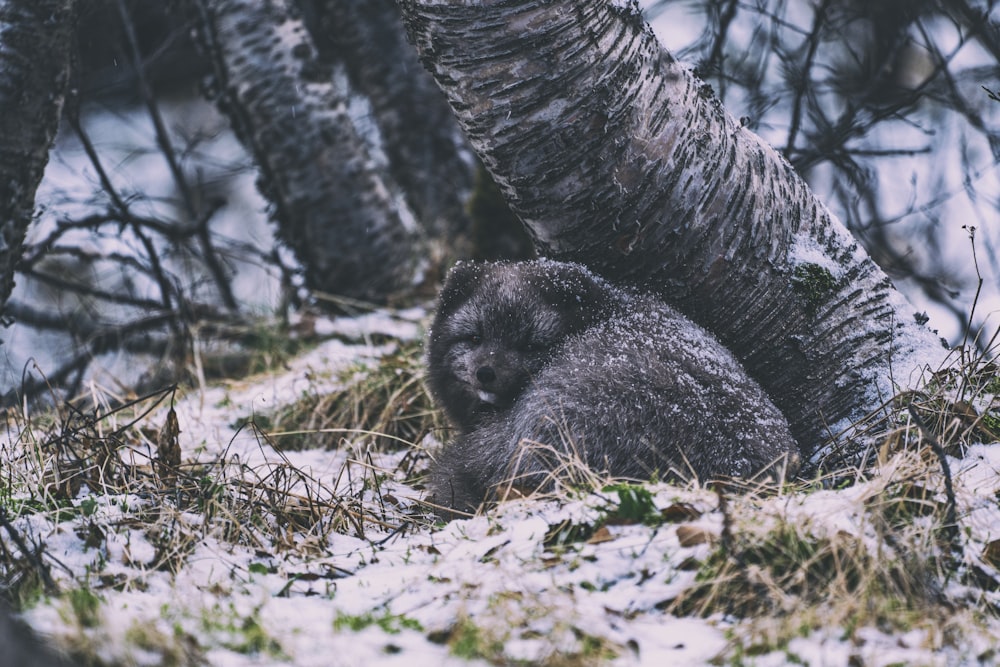
POLYGON ((460 427, 510 407, 566 338, 593 319, 600 286, 589 273, 581 281, 579 271, 527 262, 462 264, 449 273, 431 329, 429 379, 460 427), (571 270, 577 279, 566 279, 571 270))

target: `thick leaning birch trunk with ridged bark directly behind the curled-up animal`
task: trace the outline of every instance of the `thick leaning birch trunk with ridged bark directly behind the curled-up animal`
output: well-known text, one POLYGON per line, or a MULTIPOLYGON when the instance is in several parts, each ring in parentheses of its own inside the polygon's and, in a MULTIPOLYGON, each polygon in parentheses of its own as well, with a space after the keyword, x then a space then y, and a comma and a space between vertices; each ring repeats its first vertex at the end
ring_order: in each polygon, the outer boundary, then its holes
POLYGON ((401 0, 411 41, 539 251, 713 331, 808 455, 943 355, 788 163, 607 0, 401 0))

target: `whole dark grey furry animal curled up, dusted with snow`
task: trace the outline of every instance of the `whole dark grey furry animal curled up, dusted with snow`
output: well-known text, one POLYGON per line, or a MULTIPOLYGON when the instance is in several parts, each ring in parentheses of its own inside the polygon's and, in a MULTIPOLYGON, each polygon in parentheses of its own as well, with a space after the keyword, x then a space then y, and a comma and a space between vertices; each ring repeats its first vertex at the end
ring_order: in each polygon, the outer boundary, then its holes
POLYGON ((458 428, 429 499, 462 512, 534 490, 568 457, 634 479, 794 471, 763 389, 659 298, 578 264, 460 263, 428 343, 431 393, 458 428))

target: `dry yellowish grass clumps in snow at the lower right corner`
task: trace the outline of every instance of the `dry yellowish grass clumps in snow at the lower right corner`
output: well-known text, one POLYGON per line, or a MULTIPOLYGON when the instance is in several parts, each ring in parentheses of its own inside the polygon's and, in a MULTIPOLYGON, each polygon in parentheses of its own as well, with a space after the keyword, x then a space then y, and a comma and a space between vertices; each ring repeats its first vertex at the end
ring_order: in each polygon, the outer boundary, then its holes
POLYGON ((938 648, 958 646, 995 618, 1000 571, 984 571, 986 554, 963 523, 968 510, 952 466, 970 446, 1000 440, 1000 377, 981 355, 960 358, 964 364, 887 401, 856 431, 864 448, 847 447, 866 454, 786 486, 787 503, 758 492, 720 493, 722 534, 692 564, 695 584, 665 608, 745 619, 734 634, 736 655, 782 650, 824 628, 859 644, 861 628, 916 628, 938 648), (831 489, 858 497, 849 530, 824 522, 822 512, 817 518, 787 509, 817 492, 837 493, 831 489))

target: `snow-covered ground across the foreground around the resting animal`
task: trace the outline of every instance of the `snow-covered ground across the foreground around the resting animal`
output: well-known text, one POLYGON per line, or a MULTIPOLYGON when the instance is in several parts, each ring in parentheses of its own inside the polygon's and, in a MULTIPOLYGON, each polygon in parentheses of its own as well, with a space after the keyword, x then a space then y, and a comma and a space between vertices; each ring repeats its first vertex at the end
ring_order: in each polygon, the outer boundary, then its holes
MULTIPOLYGON (((915 455, 899 454, 880 475, 843 490, 737 494, 727 496, 725 508, 711 490, 658 484, 644 487, 648 496, 640 493, 650 505, 641 516, 626 508, 622 487, 609 487, 511 501, 486 516, 434 524, 401 465, 425 448, 433 454, 432 439, 388 452, 368 447, 364 438, 332 450, 281 452, 240 426, 247 416, 272 414, 305 392, 334 391, 338 369, 376 360, 393 347, 363 341, 412 340, 420 335, 420 315, 412 310, 328 323, 325 330, 339 338, 286 370, 193 391, 174 406, 182 460, 208 466, 205 480, 233 486, 242 478, 246 485, 233 488, 244 495, 260 489, 258 501, 270 497, 264 489, 280 487, 285 491, 275 504, 291 497, 327 503, 328 523, 313 517, 275 525, 279 514, 265 506, 237 516, 238 499, 209 512, 175 504, 169 494, 137 488, 105 495, 86 485, 71 500, 75 511, 58 515, 54 507, 31 512, 37 503, 19 504, 39 498, 37 487, 6 490, 0 501, 20 508, 11 525, 30 543, 44 543, 43 559, 62 591, 29 605, 27 621, 63 649, 110 665, 846 666, 996 659, 1000 624, 975 613, 990 608, 996 593, 962 576, 940 578, 941 608, 954 605, 950 624, 920 600, 912 601, 912 613, 897 610, 905 623, 884 627, 863 618, 858 627, 817 621, 815 609, 829 608, 836 619, 837 608, 850 603, 836 599, 801 610, 813 614, 801 619, 794 607, 776 611, 777 620, 711 610, 678 615, 678 601, 704 582, 705 566, 723 540, 767 534, 775 526, 793 526, 814 540, 803 537, 804 543, 846 540, 863 545, 873 559, 902 558, 905 545, 887 538, 873 507, 888 507, 887 499, 898 496, 926 506, 942 502, 941 475, 915 455), (280 479, 291 481, 281 486, 280 479), (781 629, 789 625, 796 629, 781 629)), ((168 408, 142 418, 143 432, 154 434, 150 442, 168 408)), ((115 418, 127 421, 121 413, 115 418)), ((20 430, 0 436, 12 462, 21 461, 15 454, 31 450, 41 431, 23 416, 15 422, 20 430)), ((149 451, 129 446, 142 465, 149 451)), ((951 465, 962 545, 961 562, 952 567, 996 575, 991 563, 1000 560, 1000 549, 990 545, 1000 545, 1000 448, 973 447, 951 465)), ((205 488, 219 487, 206 482, 205 488)), ((206 491, 205 503, 209 496, 206 491)), ((931 534, 919 529, 933 514, 913 514, 907 523, 917 534, 931 534)), ((0 539, 17 552, 6 535, 0 539)), ((940 556, 940 545, 925 546, 928 561, 940 556)), ((753 576, 767 569, 746 568, 753 576)), ((1000 575, 993 581, 995 590, 1000 575)), ((836 590, 832 584, 830 590, 836 590)), ((794 605, 794 595, 786 597, 794 605)))

